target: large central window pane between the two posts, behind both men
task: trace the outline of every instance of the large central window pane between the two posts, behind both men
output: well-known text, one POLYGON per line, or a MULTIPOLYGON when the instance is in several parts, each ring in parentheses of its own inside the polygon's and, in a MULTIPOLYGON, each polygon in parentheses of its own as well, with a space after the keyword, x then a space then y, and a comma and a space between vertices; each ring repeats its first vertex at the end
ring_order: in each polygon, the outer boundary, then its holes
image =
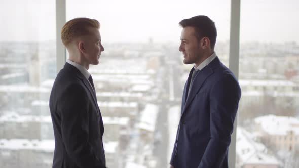
POLYGON ((105 127, 107 167, 168 167, 182 89, 193 65, 182 63, 178 22, 215 21, 216 53, 228 65, 230 1, 66 1, 66 20, 101 23, 105 51, 89 72, 105 127))

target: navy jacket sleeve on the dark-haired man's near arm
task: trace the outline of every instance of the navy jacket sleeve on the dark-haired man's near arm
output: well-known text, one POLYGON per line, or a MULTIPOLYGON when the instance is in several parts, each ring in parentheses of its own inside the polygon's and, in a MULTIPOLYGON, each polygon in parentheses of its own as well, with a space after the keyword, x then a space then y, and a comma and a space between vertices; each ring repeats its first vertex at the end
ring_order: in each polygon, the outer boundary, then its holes
POLYGON ((241 89, 231 74, 214 83, 210 91, 210 141, 198 168, 220 167, 231 143, 241 89))

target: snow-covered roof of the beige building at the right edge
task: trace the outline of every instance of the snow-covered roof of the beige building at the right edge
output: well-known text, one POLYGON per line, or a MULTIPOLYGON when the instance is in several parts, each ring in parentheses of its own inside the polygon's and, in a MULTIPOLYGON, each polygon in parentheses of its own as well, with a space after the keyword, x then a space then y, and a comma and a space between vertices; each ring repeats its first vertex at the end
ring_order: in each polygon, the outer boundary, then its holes
POLYGON ((294 117, 265 115, 255 118, 254 121, 271 135, 287 135, 289 131, 299 135, 299 119, 294 117))

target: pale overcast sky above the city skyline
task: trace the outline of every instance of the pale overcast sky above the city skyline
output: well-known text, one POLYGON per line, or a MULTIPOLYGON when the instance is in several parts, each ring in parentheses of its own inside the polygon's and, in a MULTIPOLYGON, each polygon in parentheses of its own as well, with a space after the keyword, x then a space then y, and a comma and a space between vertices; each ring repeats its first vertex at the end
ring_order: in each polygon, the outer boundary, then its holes
MULTIPOLYGON (((299 43, 298 7, 296 0, 241 1, 241 41, 299 43)), ((215 21, 218 41, 229 40, 228 0, 66 0, 66 19, 99 20, 103 43, 144 42, 150 37, 176 42, 181 31, 178 22, 196 15, 215 21)), ((0 17, 0 41, 55 40, 54 0, 0 0, 0 17)))

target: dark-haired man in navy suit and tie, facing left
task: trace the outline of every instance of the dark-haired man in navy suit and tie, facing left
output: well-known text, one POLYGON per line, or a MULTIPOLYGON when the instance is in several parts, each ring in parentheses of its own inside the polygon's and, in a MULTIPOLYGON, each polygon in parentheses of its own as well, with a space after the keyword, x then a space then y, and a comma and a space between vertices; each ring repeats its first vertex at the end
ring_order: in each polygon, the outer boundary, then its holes
POLYGON ((207 16, 179 22, 179 51, 195 64, 185 83, 170 167, 228 167, 228 147, 241 97, 234 74, 216 53, 217 31, 207 16))

